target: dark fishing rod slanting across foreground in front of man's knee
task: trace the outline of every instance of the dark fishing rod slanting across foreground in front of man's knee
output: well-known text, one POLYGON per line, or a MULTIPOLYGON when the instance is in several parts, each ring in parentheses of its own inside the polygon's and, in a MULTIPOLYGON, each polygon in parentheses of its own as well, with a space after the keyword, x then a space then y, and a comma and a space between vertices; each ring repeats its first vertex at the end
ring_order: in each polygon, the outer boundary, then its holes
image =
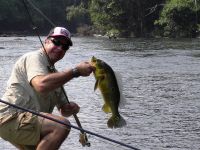
POLYGON ((0 99, 0 102, 1 102, 1 103, 4 103, 4 104, 6 104, 6 105, 9 105, 10 107, 13 107, 13 108, 16 108, 16 109, 20 109, 20 110, 23 110, 23 111, 25 111, 25 112, 30 112, 30 113, 32 113, 32 114, 34 114, 34 115, 36 115, 36 116, 40 116, 40 117, 43 117, 43 118, 45 118, 45 119, 48 119, 48 120, 57 122, 57 123, 59 123, 59 124, 62 124, 62 125, 64 125, 64 126, 71 127, 71 128, 77 129, 77 130, 80 130, 81 132, 88 133, 88 134, 90 134, 90 135, 93 135, 93 136, 99 137, 99 138, 101 138, 101 139, 104 139, 104 140, 107 140, 107 141, 110 141, 110 142, 119 144, 119 145, 121 145, 121 146, 130 148, 130 149, 133 149, 133 150, 140 150, 140 149, 135 148, 135 147, 133 147, 133 146, 131 146, 131 145, 124 144, 124 143, 122 143, 122 142, 120 142, 120 141, 117 141, 117 140, 114 140, 114 139, 111 139, 111 138, 102 136, 102 135, 100 135, 100 134, 91 132, 91 131, 89 131, 89 130, 85 130, 85 129, 83 129, 83 128, 74 126, 74 125, 72 125, 72 124, 67 124, 67 123, 65 123, 65 122, 63 122, 63 121, 57 120, 57 119, 52 118, 52 117, 49 117, 49 116, 47 116, 47 115, 43 115, 43 114, 41 114, 41 113, 39 113, 39 112, 36 112, 36 111, 34 111, 34 110, 30 110, 30 109, 27 109, 27 108, 23 108, 23 107, 21 107, 21 106, 18 106, 18 105, 15 105, 15 104, 11 104, 11 103, 6 102, 6 101, 1 100, 1 99, 0 99))

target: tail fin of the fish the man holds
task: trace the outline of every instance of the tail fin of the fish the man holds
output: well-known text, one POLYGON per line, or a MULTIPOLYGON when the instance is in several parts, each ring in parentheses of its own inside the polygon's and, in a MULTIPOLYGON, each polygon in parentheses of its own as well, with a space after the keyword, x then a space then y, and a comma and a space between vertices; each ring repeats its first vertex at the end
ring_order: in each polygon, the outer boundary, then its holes
POLYGON ((112 116, 108 120, 107 125, 108 125, 109 128, 120 128, 120 127, 123 127, 123 126, 126 125, 126 121, 120 115, 112 116))

